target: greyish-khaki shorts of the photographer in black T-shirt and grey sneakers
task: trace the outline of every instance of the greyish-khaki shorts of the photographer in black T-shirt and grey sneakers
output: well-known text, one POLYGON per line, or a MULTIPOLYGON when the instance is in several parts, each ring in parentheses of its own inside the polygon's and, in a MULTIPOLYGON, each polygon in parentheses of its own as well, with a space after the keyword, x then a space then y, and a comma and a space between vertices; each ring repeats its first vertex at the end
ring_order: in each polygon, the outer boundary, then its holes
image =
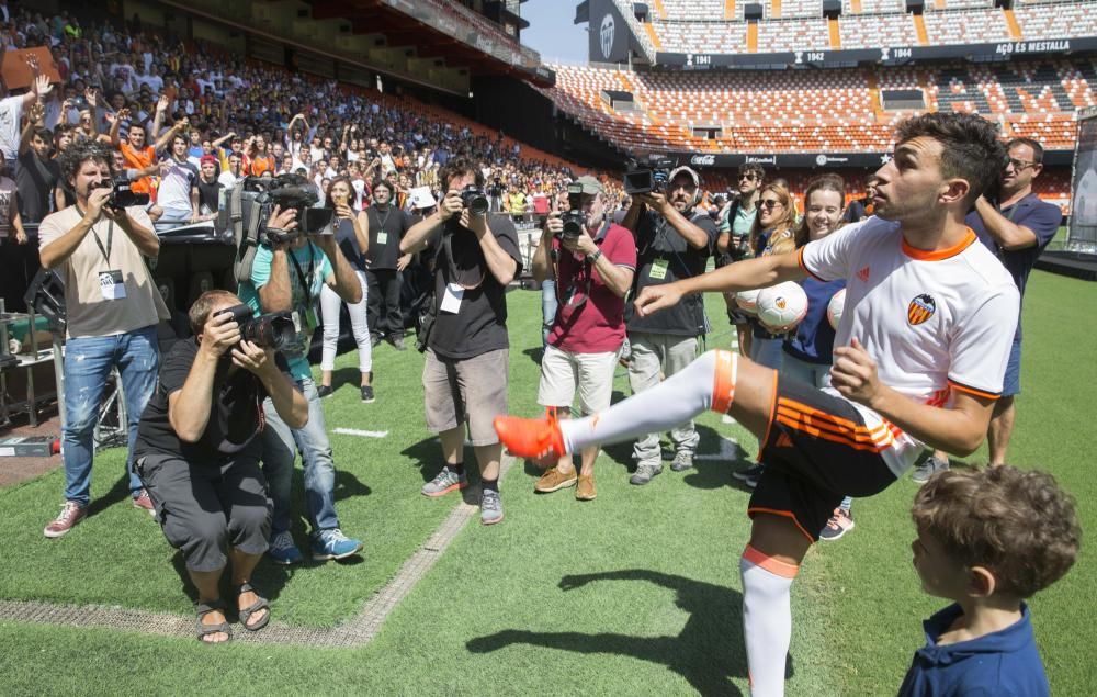
POLYGON ((491 421, 507 413, 510 351, 497 349, 473 358, 452 359, 427 349, 422 368, 427 428, 436 434, 468 424, 474 446, 499 442, 491 421))

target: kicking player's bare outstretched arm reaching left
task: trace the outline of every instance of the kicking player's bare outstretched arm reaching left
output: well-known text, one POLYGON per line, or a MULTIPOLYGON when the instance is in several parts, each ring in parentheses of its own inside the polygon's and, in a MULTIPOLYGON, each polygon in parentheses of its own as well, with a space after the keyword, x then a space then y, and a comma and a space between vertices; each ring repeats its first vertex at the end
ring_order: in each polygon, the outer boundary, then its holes
POLYGON ((756 290, 805 276, 807 272, 800 266, 800 255, 795 252, 746 259, 674 283, 649 285, 636 297, 636 312, 644 317, 677 305, 690 293, 756 290))

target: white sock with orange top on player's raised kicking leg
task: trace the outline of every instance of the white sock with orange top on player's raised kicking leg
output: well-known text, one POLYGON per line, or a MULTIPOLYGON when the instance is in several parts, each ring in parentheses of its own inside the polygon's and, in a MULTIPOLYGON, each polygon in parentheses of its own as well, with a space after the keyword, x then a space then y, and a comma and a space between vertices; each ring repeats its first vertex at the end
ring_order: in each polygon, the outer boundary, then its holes
POLYGON ((737 361, 738 355, 732 351, 706 351, 651 390, 618 402, 601 414, 562 420, 567 452, 658 434, 709 408, 726 413, 734 396, 737 361))

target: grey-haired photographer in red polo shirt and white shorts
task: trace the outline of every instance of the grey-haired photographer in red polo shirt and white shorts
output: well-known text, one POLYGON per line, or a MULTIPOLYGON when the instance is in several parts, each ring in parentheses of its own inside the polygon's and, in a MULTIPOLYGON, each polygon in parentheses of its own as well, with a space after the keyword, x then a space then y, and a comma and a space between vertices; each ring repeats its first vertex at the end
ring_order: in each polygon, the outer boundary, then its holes
MULTIPOLYGON (((568 191, 569 206, 581 213, 578 231, 565 233, 561 213, 545 223, 533 254, 538 285, 556 281, 558 308, 541 359, 538 403, 567 418, 575 393, 584 416, 606 411, 613 393, 613 370, 624 344, 624 296, 636 271, 632 233, 606 215, 606 193, 593 177, 580 177, 568 191), (577 205, 578 204, 578 205, 577 205)), ((538 480, 534 491, 575 486, 579 501, 595 498, 598 447, 580 453, 578 475, 572 456, 564 456, 538 480)))

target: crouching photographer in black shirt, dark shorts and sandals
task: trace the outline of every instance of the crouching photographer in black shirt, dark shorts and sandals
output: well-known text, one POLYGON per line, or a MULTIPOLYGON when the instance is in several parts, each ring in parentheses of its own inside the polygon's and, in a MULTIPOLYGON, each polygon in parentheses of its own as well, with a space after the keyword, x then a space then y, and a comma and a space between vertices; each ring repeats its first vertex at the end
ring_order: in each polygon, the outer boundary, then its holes
POLYGON ((195 336, 163 361, 137 429, 136 461, 163 536, 182 551, 197 588, 197 639, 219 643, 231 637, 219 589, 228 561, 244 628, 258 631, 270 620, 249 583, 271 520, 259 469, 263 401, 292 428, 308 420, 308 403, 274 350, 292 336, 292 324, 279 324, 289 317, 248 322, 250 308, 228 291, 203 293, 189 316, 195 336))

